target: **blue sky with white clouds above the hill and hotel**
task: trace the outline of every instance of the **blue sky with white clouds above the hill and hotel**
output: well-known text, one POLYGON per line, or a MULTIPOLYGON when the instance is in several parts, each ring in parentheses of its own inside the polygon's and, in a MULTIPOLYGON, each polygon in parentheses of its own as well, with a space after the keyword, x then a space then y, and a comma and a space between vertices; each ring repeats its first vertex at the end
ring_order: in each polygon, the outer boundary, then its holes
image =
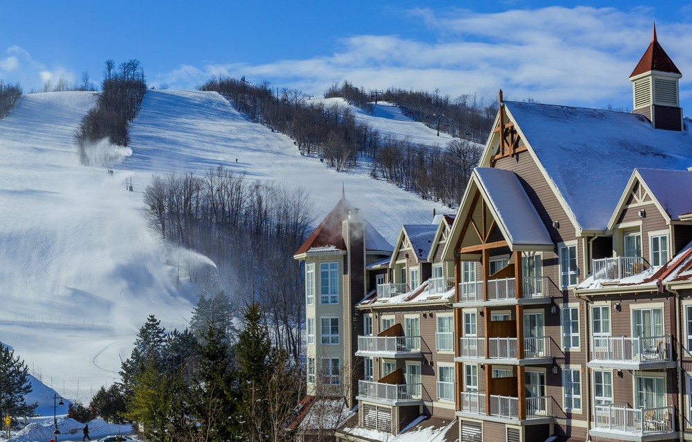
POLYGON ((100 81, 104 60, 137 58, 152 85, 174 89, 230 75, 319 94, 346 79, 486 99, 502 87, 509 99, 629 108, 627 78, 656 20, 692 114, 684 2, 13 1, 2 9, 0 78, 25 91, 82 71, 100 81))

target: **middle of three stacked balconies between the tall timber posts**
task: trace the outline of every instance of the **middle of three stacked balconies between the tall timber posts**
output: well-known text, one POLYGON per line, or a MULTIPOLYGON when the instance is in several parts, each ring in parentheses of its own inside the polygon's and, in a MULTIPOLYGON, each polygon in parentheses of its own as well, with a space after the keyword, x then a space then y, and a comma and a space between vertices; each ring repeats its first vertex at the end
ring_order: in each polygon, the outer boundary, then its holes
POLYGON ((459 357, 457 359, 474 358, 483 360, 488 359, 488 363, 493 363, 492 360, 504 360, 510 364, 549 363, 552 362, 550 354, 550 337, 525 337, 524 354, 522 358, 518 357, 516 337, 488 338, 488 357, 485 357, 484 337, 459 338, 459 357))

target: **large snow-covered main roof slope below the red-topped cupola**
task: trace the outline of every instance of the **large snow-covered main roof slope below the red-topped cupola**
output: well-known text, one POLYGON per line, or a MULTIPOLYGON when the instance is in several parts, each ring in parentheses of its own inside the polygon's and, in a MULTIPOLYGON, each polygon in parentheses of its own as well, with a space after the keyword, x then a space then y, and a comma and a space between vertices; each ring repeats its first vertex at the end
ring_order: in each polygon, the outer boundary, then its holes
POLYGON ((692 136, 640 114, 505 101, 581 229, 605 231, 632 170, 692 166, 692 136))

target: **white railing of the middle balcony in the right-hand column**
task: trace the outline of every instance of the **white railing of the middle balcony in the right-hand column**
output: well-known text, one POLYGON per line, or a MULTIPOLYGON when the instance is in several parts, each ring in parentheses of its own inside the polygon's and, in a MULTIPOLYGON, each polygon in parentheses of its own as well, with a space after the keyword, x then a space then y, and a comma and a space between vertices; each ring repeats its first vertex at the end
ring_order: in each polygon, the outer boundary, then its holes
POLYGON ((593 359, 610 362, 671 360, 671 335, 654 337, 594 336, 593 359))

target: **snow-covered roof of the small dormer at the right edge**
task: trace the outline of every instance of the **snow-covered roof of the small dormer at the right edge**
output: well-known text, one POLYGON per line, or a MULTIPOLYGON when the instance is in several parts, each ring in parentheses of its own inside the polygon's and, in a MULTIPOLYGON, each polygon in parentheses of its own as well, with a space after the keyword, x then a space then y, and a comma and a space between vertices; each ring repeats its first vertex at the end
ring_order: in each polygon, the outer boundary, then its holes
POLYGON ((637 172, 672 220, 692 210, 692 172, 639 168, 637 172))

